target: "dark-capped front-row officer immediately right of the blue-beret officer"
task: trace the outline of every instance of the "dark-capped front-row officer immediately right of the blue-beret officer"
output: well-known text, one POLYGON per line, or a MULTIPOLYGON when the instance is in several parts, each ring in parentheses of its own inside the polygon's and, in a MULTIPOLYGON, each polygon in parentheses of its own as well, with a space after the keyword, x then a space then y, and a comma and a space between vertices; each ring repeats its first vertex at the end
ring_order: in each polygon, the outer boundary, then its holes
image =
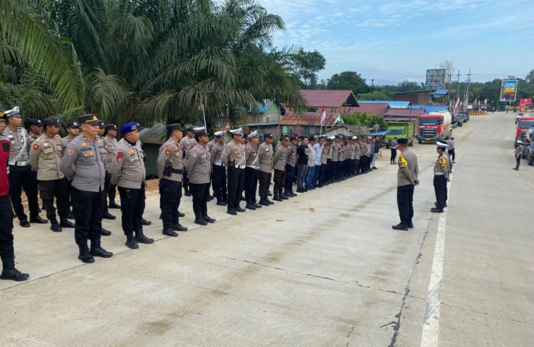
POLYGON ((179 123, 169 124, 169 139, 160 147, 156 159, 156 172, 160 178, 161 219, 163 235, 178 236, 175 230, 186 232, 187 228, 180 225, 178 207, 182 198, 182 178, 184 162, 179 142, 183 137, 183 128, 179 123))

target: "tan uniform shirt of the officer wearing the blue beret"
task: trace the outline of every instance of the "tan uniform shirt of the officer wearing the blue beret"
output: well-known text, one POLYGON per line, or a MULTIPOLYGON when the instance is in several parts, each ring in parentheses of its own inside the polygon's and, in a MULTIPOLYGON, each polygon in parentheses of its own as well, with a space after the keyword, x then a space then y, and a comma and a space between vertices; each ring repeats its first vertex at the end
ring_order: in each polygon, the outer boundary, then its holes
POLYGON ((139 143, 132 144, 124 138, 117 143, 111 167, 111 184, 130 189, 141 189, 145 182, 144 153, 139 143))

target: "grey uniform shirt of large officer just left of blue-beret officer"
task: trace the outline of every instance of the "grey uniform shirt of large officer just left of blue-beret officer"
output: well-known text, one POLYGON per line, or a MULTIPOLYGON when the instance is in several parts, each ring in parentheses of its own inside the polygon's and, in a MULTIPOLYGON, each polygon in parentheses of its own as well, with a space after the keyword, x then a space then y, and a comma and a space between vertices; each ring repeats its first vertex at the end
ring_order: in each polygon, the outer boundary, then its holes
POLYGON ((68 180, 72 180, 72 186, 76 189, 93 192, 104 190, 105 156, 103 138, 96 136, 95 140, 89 141, 82 134, 67 145, 61 159, 61 172, 68 180))

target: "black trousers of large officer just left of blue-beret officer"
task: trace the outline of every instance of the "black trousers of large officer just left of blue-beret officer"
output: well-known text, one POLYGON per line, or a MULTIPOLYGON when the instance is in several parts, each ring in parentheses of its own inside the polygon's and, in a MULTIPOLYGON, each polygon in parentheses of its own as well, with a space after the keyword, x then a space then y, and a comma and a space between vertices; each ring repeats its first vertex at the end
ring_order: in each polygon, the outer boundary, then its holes
POLYGON ((72 212, 75 219, 74 238, 77 244, 87 245, 89 239, 91 246, 100 245, 105 201, 106 192, 104 190, 95 192, 72 187, 72 212))

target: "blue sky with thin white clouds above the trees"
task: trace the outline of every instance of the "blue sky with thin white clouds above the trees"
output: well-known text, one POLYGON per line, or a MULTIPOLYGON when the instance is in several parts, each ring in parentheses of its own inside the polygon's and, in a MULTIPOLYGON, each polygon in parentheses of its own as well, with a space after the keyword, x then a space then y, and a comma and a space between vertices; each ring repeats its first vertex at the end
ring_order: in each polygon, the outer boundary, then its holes
MULTIPOLYGON (((534 68, 533 0, 258 0, 285 21, 274 44, 318 50, 319 79, 352 70, 371 84, 424 82, 452 60, 474 81, 524 76, 534 68)), ((455 77, 456 78, 456 77, 455 77)))

